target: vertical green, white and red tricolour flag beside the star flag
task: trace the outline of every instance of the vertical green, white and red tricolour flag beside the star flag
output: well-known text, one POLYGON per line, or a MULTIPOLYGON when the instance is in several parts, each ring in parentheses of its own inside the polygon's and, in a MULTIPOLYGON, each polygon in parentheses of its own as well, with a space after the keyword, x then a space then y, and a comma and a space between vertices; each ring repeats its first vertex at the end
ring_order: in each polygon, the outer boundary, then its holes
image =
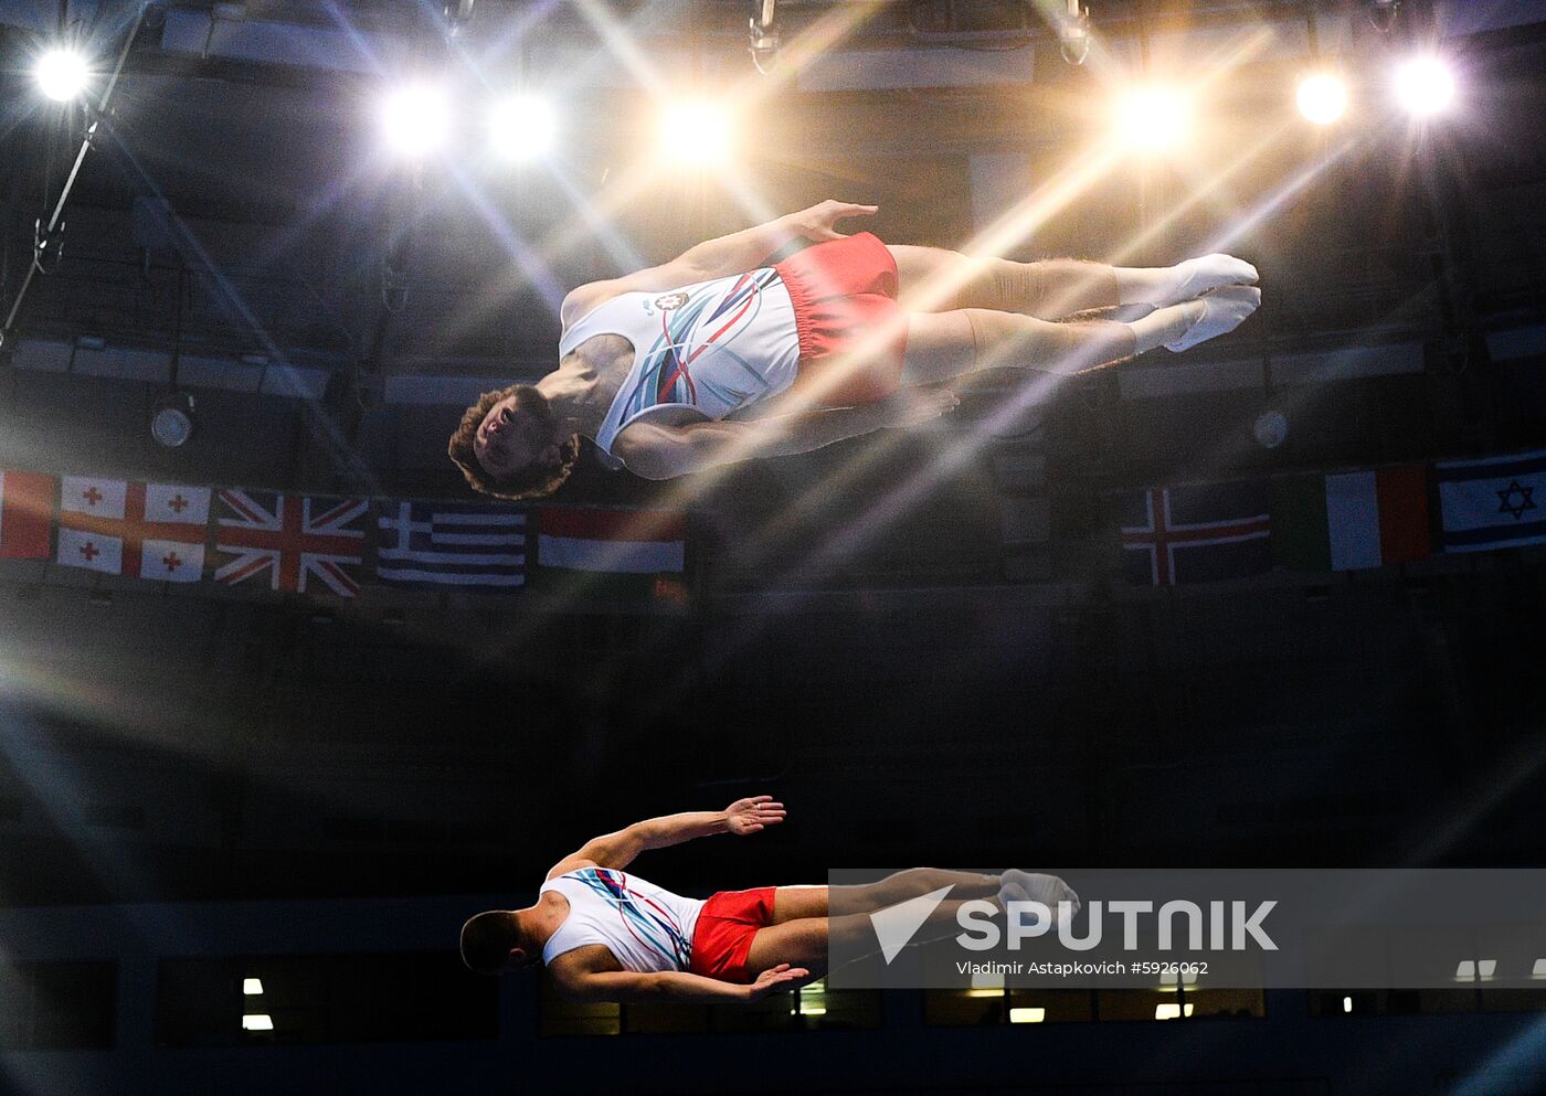
POLYGON ((1424 465, 1272 481, 1272 558, 1294 570, 1359 570, 1433 553, 1424 465))

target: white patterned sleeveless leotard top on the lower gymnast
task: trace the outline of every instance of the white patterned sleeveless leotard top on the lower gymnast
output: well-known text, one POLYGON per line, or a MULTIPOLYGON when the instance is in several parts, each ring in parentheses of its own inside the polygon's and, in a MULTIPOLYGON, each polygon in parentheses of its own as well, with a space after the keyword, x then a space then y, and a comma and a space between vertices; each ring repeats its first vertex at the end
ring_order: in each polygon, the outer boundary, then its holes
POLYGON ((625 971, 685 971, 700 898, 674 895, 611 867, 581 867, 543 884, 569 900, 569 917, 543 945, 543 963, 566 951, 603 945, 625 971))

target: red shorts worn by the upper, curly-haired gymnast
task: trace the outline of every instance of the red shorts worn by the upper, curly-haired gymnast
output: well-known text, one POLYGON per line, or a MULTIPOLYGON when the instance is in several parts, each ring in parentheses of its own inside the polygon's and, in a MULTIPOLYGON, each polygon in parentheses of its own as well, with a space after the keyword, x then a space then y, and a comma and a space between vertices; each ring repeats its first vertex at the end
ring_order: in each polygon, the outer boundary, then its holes
POLYGON ((869 232, 829 240, 775 264, 795 305, 799 377, 793 391, 843 407, 886 399, 901 380, 908 315, 897 260, 869 232))

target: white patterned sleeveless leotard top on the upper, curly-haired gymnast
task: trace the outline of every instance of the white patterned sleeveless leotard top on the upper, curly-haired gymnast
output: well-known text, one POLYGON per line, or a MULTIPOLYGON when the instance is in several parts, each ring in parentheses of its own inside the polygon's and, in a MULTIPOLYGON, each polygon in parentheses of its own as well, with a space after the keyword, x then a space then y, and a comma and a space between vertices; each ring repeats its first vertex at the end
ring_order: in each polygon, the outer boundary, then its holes
POLYGON ((564 332, 558 356, 595 335, 634 345, 634 365, 595 436, 606 453, 623 427, 656 408, 724 419, 788 388, 799 368, 795 306, 773 267, 614 297, 564 332))

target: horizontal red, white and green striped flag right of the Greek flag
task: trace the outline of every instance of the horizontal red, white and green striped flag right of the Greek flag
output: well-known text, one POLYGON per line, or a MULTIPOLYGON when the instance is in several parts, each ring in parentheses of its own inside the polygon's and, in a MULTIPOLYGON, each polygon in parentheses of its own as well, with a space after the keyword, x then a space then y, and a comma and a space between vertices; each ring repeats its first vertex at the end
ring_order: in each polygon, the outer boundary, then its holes
POLYGON ((535 510, 541 581, 566 575, 570 591, 600 597, 674 597, 686 560, 683 515, 668 510, 535 510))

